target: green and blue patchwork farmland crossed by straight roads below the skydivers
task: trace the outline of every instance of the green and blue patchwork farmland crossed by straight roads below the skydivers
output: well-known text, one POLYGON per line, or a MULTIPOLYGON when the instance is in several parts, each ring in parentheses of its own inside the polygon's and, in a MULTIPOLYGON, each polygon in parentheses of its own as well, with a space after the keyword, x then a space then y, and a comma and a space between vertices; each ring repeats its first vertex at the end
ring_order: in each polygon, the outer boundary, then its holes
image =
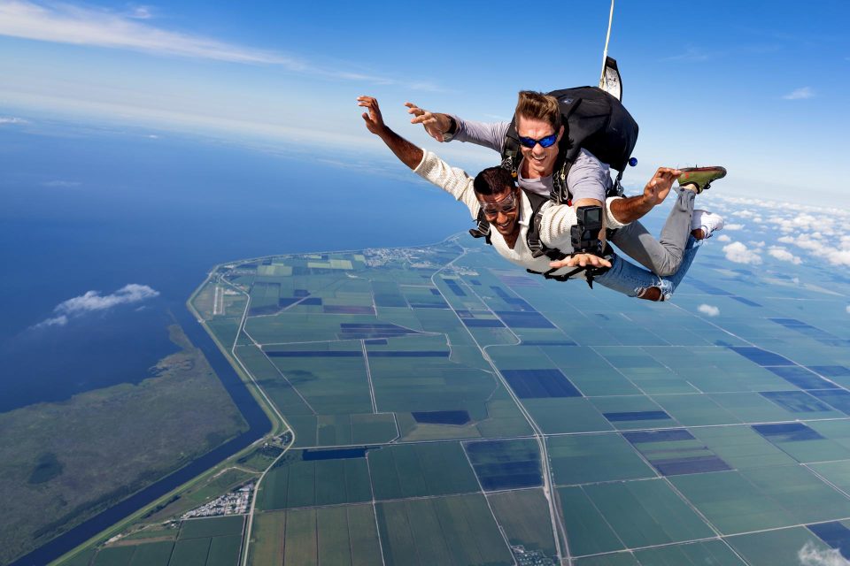
POLYGON ((672 304, 535 279, 461 237, 222 265, 198 310, 292 443, 259 470, 243 523, 183 522, 90 563, 797 566, 803 547, 845 552, 843 303, 758 296, 712 253, 672 304), (699 316, 709 299, 735 316, 699 316))

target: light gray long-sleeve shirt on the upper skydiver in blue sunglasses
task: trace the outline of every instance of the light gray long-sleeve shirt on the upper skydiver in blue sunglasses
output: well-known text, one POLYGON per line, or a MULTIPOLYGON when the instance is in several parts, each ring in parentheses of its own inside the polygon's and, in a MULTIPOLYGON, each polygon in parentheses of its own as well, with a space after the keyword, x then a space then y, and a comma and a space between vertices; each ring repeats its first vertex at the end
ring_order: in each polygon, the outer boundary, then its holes
MULTIPOLYGON (((457 121, 458 129, 452 140, 459 142, 470 142, 502 152, 505 144, 505 135, 510 122, 475 122, 473 120, 460 119, 453 116, 457 121)), ((522 164, 522 162, 521 162, 522 164)), ((517 180, 522 188, 532 193, 548 196, 552 193, 552 175, 538 179, 525 179, 522 177, 522 167, 517 167, 517 180)), ((605 202, 607 190, 614 184, 611 180, 610 168, 602 163, 586 149, 581 149, 576 157, 576 163, 567 174, 567 188, 573 196, 573 201, 583 198, 594 198, 600 203, 605 202)))

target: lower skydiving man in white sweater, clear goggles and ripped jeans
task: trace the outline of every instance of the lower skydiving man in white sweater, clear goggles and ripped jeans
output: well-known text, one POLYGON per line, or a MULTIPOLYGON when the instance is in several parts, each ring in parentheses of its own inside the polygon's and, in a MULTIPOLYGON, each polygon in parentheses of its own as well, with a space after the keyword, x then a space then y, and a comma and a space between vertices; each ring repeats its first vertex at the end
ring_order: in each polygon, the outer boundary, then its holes
MULTIPOLYGON (((611 261, 593 254, 576 253, 556 264, 551 264, 546 256, 535 257, 529 249, 526 237, 531 221, 531 203, 522 189, 516 186, 510 172, 500 167, 485 169, 471 179, 466 172, 453 168, 431 152, 423 151, 411 142, 393 132, 383 123, 383 117, 375 98, 360 96, 358 105, 367 109, 363 113, 367 129, 380 137, 398 159, 413 169, 422 178, 429 180, 437 187, 443 188, 461 203, 467 205, 472 218, 477 218, 479 210, 483 210, 485 218, 496 232, 491 230, 491 243, 500 256, 534 272, 551 272, 559 276, 575 271, 576 266, 587 266, 599 271, 593 280, 599 285, 630 296, 637 296, 653 301, 663 301, 672 294, 673 290, 684 277, 684 272, 690 267, 698 247, 698 239, 684 232, 678 242, 682 250, 683 260, 675 274, 669 277, 659 277, 652 272, 641 269, 619 256, 613 256, 611 261)), ((673 182, 681 174, 679 170, 666 167, 660 168, 653 179, 644 189, 645 202, 652 206, 663 202, 668 195, 673 182)), ((679 201, 671 215, 687 215, 691 218, 695 191, 683 188, 679 201)), ((610 203, 619 197, 607 199, 605 206, 606 225, 608 227, 624 226, 610 212, 610 203)), ((652 207, 650 207, 651 209, 652 207)), ((570 232, 576 225, 576 210, 568 205, 546 203, 541 209, 539 237, 540 241, 550 249, 560 249, 565 254, 574 252, 570 232)), ((690 224, 690 222, 688 222, 690 224)), ((717 229, 715 227, 715 229, 717 229)), ((699 232, 699 231, 697 231, 699 232)), ((707 229, 705 232, 709 232, 707 229)), ((703 238, 708 233, 697 234, 703 238)), ((699 238, 701 240, 702 238, 699 238)), ((577 272, 573 277, 584 277, 584 272, 577 272)))

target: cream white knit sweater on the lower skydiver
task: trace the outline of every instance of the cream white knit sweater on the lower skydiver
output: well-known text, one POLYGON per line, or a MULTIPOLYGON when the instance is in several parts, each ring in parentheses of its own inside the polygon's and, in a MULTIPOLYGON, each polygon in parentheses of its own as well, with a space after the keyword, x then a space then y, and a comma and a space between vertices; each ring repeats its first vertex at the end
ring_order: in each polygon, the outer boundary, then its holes
MULTIPOLYGON (((421 176, 422 179, 428 180, 437 185, 437 187, 442 188, 456 200, 466 204, 472 218, 478 218, 478 210, 481 207, 475 196, 473 179, 462 169, 452 167, 434 153, 425 151, 420 164, 416 166, 413 172, 421 176)), ((507 246, 502 234, 498 233, 495 229, 491 230, 493 248, 496 249, 499 256, 504 257, 509 262, 535 272, 548 272, 550 269, 550 260, 548 257, 531 256, 531 250, 527 242, 531 203, 522 191, 520 193, 522 195, 522 208, 518 220, 520 223, 520 235, 516 239, 514 249, 510 249, 507 246)), ((605 206, 606 226, 609 228, 620 228, 624 226, 621 222, 617 222, 609 211, 610 204, 615 198, 620 197, 613 196, 608 198, 605 206)), ((560 249, 565 254, 572 252, 573 247, 570 244, 569 232, 570 228, 576 224, 576 210, 566 204, 555 205, 551 203, 544 204, 541 210, 540 241, 548 248, 560 249)), ((571 267, 565 267, 554 272, 554 274, 570 272, 572 269, 571 267)), ((583 272, 577 277, 583 278, 583 272)))

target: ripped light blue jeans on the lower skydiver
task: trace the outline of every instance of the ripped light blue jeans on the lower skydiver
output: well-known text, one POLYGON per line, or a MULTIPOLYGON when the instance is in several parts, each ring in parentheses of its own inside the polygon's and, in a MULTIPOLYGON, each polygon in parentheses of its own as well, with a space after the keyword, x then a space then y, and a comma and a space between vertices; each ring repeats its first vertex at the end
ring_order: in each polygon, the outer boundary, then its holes
POLYGON ((611 269, 593 278, 593 282, 630 297, 640 296, 650 287, 658 287, 661 289, 661 300, 668 301, 673 296, 673 291, 682 282, 684 274, 691 269, 693 258, 697 255, 702 242, 703 240, 696 240, 693 236, 688 236, 688 243, 684 247, 679 269, 676 273, 667 277, 659 277, 653 272, 630 264, 622 257, 614 255, 611 259, 611 269))

